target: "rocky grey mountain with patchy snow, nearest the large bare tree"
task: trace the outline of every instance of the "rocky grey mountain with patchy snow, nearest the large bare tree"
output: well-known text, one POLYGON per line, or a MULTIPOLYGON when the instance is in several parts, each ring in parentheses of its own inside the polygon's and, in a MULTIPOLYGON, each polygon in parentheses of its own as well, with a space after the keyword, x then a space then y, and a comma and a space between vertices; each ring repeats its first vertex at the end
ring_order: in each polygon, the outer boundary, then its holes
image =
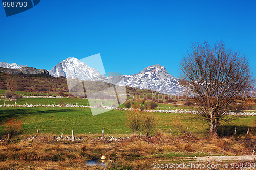
POLYGON ((170 75, 164 66, 159 64, 146 67, 138 74, 123 75, 124 82, 117 85, 151 89, 163 94, 181 95, 184 87, 174 76, 170 75))

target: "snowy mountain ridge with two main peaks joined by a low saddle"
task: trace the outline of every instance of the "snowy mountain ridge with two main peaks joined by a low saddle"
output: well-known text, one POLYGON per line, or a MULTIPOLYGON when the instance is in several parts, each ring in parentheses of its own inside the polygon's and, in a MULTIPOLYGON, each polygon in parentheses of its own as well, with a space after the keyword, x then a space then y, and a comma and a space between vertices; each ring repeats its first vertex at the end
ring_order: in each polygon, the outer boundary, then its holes
POLYGON ((122 76, 102 76, 99 71, 89 67, 77 58, 67 58, 58 63, 50 75, 64 76, 71 79, 99 80, 113 83, 119 86, 136 87, 140 89, 151 89, 164 94, 181 95, 185 89, 179 84, 177 78, 168 73, 164 66, 152 65, 146 67, 138 74, 122 76))

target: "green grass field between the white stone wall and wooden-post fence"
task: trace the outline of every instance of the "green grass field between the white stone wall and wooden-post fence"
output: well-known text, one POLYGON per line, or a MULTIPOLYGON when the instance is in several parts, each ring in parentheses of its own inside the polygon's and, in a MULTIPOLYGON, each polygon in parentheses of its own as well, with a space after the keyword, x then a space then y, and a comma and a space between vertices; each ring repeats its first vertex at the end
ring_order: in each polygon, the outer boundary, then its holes
MULTIPOLYGON (((172 129, 173 135, 183 135, 188 129, 197 136, 205 136, 208 131, 208 124, 197 119, 194 114, 155 113, 157 127, 155 131, 169 133, 172 129)), ((8 118, 15 117, 21 120, 22 132, 26 134, 49 133, 70 135, 74 130, 75 134, 101 134, 102 130, 106 135, 131 134, 131 130, 125 126, 126 111, 111 110, 96 116, 92 116, 90 108, 66 108, 66 107, 1 107, 0 108, 0 135, 6 135, 4 126, 8 118)), ((238 133, 245 134, 254 121, 254 116, 242 116, 231 124, 224 124, 221 135, 232 134, 234 126, 237 126, 238 133), (227 132, 226 132, 227 131, 227 132)))

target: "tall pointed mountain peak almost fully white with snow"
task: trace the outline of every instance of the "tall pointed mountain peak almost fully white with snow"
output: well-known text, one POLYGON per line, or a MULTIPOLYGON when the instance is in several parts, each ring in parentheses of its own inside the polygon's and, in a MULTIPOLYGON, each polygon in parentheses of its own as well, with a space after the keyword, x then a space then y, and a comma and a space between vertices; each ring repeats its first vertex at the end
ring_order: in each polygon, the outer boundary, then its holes
POLYGON ((70 79, 98 80, 102 75, 94 68, 89 67, 77 58, 69 57, 58 63, 50 71, 50 75, 64 76, 70 79))

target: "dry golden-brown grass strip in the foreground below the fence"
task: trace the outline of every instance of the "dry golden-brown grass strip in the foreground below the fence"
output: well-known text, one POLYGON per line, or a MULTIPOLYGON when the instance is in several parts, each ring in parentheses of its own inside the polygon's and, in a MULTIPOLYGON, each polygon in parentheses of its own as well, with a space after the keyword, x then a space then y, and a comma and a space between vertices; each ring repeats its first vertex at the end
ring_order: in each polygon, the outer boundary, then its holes
POLYGON ((162 132, 152 138, 133 136, 114 142, 92 139, 60 142, 51 138, 1 142, 0 169, 151 169, 153 162, 184 159, 182 154, 250 155, 256 143, 252 135, 235 140, 234 137, 196 138, 193 134, 172 137, 162 132), (86 166, 86 160, 100 159, 102 155, 106 155, 106 167, 86 166))

